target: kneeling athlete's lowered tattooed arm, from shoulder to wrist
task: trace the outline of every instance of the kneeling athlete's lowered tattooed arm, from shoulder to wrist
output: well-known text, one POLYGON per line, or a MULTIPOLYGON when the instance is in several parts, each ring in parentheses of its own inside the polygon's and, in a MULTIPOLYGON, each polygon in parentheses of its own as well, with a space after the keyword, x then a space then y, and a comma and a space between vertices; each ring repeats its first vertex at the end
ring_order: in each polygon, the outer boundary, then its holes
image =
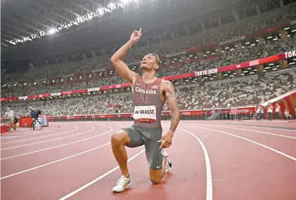
POLYGON ((176 99, 176 92, 174 90, 174 86, 170 81, 165 81, 165 97, 167 98, 167 102, 169 103, 169 109, 172 113, 171 126, 169 127, 169 131, 176 131, 176 127, 180 121, 180 111, 178 106, 178 100, 176 99))

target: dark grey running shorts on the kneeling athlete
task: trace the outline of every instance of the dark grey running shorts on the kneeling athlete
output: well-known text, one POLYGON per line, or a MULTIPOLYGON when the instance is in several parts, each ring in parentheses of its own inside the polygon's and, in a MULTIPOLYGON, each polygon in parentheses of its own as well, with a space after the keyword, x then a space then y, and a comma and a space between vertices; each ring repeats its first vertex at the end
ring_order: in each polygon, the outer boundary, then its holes
POLYGON ((162 169, 162 149, 161 142, 157 142, 162 137, 162 127, 148 128, 143 126, 132 125, 122 128, 127 131, 131 142, 127 147, 140 147, 145 145, 146 158, 151 169, 162 169))

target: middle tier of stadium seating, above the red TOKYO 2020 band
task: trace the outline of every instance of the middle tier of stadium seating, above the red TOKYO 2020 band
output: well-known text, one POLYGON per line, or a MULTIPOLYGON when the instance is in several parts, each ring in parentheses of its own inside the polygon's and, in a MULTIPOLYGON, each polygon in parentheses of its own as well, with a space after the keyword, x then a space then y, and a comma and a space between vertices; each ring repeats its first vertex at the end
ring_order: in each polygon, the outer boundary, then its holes
MULTIPOLYGON (((210 63, 209 60, 202 60, 200 62, 192 62, 184 66, 167 67, 162 69, 158 76, 172 76, 175 74, 185 74, 188 72, 196 72, 203 69, 217 68, 226 65, 233 65, 248 60, 255 60, 257 58, 264 58, 269 55, 276 55, 278 53, 284 53, 294 48, 296 44, 296 35, 290 36, 287 40, 266 40, 264 43, 257 46, 245 46, 236 50, 228 50, 221 53, 219 61, 210 63)), ((88 81, 74 84, 62 84, 62 85, 41 85, 41 86, 10 86, 2 88, 2 94, 4 97, 15 97, 23 95, 37 95, 41 93, 55 93, 60 91, 71 91, 85 88, 94 88, 99 86, 109 86, 112 84, 122 84, 126 82, 119 76, 113 76, 96 81, 88 81), (24 93, 25 91, 25 93, 24 93)))

